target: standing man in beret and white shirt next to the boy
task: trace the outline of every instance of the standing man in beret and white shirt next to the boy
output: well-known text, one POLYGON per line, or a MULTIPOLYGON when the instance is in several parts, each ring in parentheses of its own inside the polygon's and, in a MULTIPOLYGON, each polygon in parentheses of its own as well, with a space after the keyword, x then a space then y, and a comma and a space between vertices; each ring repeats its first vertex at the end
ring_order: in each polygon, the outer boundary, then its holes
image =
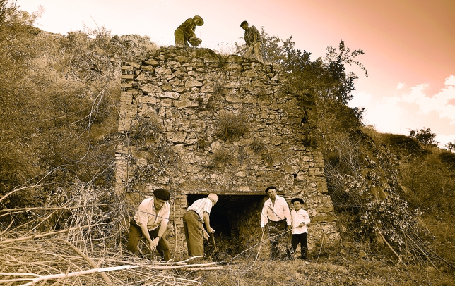
POLYGON ((290 259, 293 254, 289 244, 289 236, 285 235, 291 229, 291 216, 288 203, 285 198, 276 194, 276 187, 267 187, 268 200, 264 203, 261 213, 261 228, 267 227, 268 239, 271 244, 271 259, 281 258, 285 252, 286 258, 290 259))

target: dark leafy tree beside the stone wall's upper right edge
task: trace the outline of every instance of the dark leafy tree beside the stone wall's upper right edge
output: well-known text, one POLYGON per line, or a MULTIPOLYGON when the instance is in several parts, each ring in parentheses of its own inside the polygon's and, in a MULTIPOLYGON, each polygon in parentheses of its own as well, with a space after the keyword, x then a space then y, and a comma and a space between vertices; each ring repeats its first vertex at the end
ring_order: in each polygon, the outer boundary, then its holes
POLYGON ((365 67, 355 60, 363 54, 362 50, 350 52, 344 42, 339 44, 340 51, 327 48, 325 58, 310 60, 307 51, 290 49, 283 66, 288 71, 290 80, 286 85, 288 92, 295 94, 301 108, 307 115, 302 119, 304 132, 311 133, 322 149, 336 149, 339 135, 357 132, 362 125, 362 113, 365 108, 350 108, 348 101, 355 90, 355 73, 346 73, 345 64, 356 64, 365 71, 365 67))

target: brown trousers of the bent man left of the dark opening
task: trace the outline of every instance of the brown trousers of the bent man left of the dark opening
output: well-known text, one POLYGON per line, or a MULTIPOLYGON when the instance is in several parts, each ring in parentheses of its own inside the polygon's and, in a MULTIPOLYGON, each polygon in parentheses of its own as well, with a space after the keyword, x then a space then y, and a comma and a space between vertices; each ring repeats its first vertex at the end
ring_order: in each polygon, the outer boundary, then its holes
POLYGON ((183 228, 187 240, 188 256, 203 255, 203 225, 196 211, 184 213, 183 228))

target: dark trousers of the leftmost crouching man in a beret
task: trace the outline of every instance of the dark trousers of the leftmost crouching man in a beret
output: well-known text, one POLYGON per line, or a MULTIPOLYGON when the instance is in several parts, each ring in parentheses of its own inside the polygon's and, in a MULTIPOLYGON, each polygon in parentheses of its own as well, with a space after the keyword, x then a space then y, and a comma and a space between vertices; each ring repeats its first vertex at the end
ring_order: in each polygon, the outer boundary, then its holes
MULTIPOLYGON (((156 237, 158 237, 158 230, 160 230, 160 227, 155 228, 154 230, 150 230, 148 234, 150 235, 150 238, 153 240, 156 237)), ((128 237, 128 246, 126 249, 129 251, 133 252, 136 254, 138 252, 138 243, 139 240, 141 240, 143 234, 141 227, 137 225, 136 221, 133 219, 129 222, 129 237, 128 237)), ((164 259, 165 261, 170 260, 170 249, 169 249, 169 244, 167 244, 166 238, 163 236, 160 238, 160 241, 158 242, 158 245, 156 246, 156 250, 164 259)))

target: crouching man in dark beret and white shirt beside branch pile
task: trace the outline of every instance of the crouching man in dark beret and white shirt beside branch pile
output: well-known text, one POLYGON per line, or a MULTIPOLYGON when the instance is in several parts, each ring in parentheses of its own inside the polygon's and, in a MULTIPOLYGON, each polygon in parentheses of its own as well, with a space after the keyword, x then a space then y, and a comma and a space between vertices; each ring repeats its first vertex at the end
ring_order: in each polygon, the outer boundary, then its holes
POLYGON ((165 189, 155 189, 153 197, 144 199, 129 225, 127 249, 134 254, 138 252, 138 243, 146 238, 151 251, 158 251, 162 259, 169 261, 170 249, 164 237, 169 222, 170 193, 165 189))

